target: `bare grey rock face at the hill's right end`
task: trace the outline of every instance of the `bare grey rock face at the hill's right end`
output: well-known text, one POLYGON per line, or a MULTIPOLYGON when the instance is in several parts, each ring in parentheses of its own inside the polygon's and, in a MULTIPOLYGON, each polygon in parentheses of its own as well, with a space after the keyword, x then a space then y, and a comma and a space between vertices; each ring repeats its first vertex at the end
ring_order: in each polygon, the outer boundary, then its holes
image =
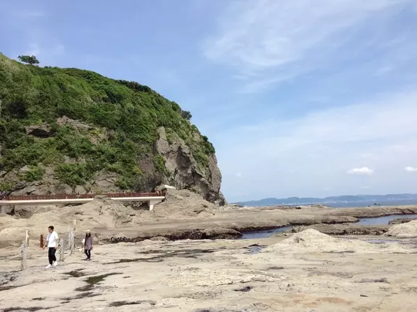
POLYGON ((167 139, 165 128, 158 128, 158 140, 155 142, 154 153, 160 154, 165 160, 166 171, 163 183, 176 189, 188 189, 199 193, 209 202, 224 205, 225 200, 220 192, 222 174, 218 168, 215 154, 208 156, 208 166, 202 168, 197 164, 190 148, 175 133, 167 139))

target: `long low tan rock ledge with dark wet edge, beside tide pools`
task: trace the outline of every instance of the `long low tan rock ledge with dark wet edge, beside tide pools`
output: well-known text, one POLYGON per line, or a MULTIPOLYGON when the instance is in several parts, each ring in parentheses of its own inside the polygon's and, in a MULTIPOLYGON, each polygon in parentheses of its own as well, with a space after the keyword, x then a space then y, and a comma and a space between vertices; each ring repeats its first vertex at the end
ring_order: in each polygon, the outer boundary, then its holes
MULTIPOLYGON (((279 209, 251 207, 242 210, 221 211, 210 218, 187 218, 186 220, 161 220, 138 223, 137 227, 126 226, 117 229, 97 229, 97 236, 106 243, 120 241, 135 243, 164 236, 179 239, 225 239, 225 236, 204 236, 206 229, 233 229, 240 233, 277 229, 289 226, 335 225, 359 223, 359 218, 376 218, 398 215, 398 218, 417 214, 417 206, 367 207, 337 209, 329 207, 304 207, 302 209, 279 209)), ((366 229, 366 226, 362 226, 366 229)), ((231 237, 232 238, 232 237, 231 237)), ((238 236, 235 236, 238 238, 238 236)))

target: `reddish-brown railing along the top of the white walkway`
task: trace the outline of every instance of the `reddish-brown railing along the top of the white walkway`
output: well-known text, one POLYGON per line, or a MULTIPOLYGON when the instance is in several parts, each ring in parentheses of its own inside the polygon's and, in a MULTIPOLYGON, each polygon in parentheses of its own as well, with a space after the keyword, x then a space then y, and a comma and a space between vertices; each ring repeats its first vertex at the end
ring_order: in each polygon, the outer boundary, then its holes
MULTIPOLYGON (((139 192, 126 192, 126 193, 104 193, 97 194, 101 196, 111 198, 124 198, 124 197, 153 197, 162 196, 162 193, 139 193, 139 192)), ((19 196, 0 196, 0 200, 60 200, 60 199, 83 199, 94 198, 95 194, 55 194, 55 195, 19 195, 19 196)))

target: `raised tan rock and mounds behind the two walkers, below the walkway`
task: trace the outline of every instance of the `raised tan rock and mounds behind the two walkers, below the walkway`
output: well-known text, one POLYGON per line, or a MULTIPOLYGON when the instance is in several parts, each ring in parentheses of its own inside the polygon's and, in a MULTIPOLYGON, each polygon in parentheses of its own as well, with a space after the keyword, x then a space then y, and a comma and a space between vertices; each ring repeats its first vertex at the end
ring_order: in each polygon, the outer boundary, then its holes
POLYGON ((0 214, 0 248, 19 246, 26 230, 38 244, 49 225, 65 238, 74 220, 76 243, 81 242, 86 229, 94 233, 97 243, 136 243, 146 239, 239 239, 246 232, 280 227, 292 227, 291 232, 313 228, 332 235, 380 235, 388 231, 388 225, 360 225, 359 218, 396 215, 400 220, 393 222, 401 223, 417 214, 417 206, 218 207, 185 190, 168 191, 166 200, 153 211, 130 204, 96 198, 77 206, 15 207, 13 214, 0 214))

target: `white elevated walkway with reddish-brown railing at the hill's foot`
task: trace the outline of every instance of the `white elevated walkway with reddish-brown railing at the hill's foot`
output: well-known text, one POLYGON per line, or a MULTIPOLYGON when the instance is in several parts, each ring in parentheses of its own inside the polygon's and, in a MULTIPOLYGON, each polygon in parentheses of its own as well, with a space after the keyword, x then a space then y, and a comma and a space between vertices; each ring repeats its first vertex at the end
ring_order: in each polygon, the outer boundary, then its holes
MULTIPOLYGON (((154 209, 154 205, 165 199, 163 193, 106 193, 97 194, 106 196, 112 200, 120 202, 147 202, 149 210, 154 209)), ((22 195, 22 196, 1 196, 0 206, 17 205, 58 205, 58 204, 83 204, 94 200, 93 194, 59 194, 59 195, 22 195)))

